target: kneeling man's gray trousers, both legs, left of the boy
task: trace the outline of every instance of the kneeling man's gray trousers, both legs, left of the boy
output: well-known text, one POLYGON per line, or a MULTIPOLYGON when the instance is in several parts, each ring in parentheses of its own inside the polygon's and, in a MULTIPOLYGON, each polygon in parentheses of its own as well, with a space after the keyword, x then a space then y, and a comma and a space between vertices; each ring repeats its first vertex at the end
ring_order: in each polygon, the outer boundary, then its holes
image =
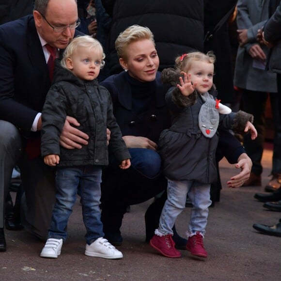
POLYGON ((27 231, 46 240, 55 203, 53 169, 41 156, 29 159, 18 129, 0 120, 0 228, 4 226, 4 202, 16 164, 24 187, 21 223, 27 231))

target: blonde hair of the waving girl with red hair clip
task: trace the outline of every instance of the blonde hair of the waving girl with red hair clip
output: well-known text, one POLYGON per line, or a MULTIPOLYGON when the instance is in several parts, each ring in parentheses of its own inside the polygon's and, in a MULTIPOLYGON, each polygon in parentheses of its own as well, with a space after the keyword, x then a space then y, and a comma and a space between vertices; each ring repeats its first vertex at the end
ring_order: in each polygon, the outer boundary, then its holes
POLYGON ((187 54, 183 54, 182 56, 175 59, 175 69, 179 73, 182 71, 187 72, 191 67, 191 63, 194 61, 214 64, 216 62, 216 56, 212 51, 209 51, 206 54, 202 52, 190 52, 187 54))

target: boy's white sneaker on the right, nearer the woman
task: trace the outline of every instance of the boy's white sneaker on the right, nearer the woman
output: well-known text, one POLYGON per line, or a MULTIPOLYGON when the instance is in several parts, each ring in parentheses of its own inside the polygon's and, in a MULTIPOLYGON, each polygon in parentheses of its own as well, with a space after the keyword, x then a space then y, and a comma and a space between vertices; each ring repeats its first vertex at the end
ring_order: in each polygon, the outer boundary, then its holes
POLYGON ((122 259, 123 254, 103 237, 97 238, 91 245, 86 245, 86 256, 105 259, 122 259))

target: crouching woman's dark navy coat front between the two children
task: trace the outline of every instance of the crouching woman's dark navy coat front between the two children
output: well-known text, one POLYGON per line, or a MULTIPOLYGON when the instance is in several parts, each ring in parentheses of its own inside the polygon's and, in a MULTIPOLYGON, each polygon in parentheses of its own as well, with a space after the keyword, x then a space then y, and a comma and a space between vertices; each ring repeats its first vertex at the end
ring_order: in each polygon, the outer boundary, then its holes
POLYGON ((123 71, 100 83, 111 94, 114 116, 122 135, 146 137, 157 143, 161 131, 171 125, 171 115, 166 107, 161 75, 159 72, 156 75, 155 103, 151 103, 150 108, 138 115, 132 110, 132 93, 127 75, 128 73, 123 71))

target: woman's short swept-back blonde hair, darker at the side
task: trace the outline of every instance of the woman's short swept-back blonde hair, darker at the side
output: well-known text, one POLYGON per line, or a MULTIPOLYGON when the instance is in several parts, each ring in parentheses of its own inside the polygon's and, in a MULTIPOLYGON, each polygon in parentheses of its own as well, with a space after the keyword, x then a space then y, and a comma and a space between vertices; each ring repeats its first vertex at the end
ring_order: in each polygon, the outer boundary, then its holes
POLYGON ((127 47, 130 43, 148 39, 151 40, 155 46, 154 36, 148 27, 140 25, 132 25, 121 32, 115 41, 115 49, 119 58, 127 58, 127 47))

